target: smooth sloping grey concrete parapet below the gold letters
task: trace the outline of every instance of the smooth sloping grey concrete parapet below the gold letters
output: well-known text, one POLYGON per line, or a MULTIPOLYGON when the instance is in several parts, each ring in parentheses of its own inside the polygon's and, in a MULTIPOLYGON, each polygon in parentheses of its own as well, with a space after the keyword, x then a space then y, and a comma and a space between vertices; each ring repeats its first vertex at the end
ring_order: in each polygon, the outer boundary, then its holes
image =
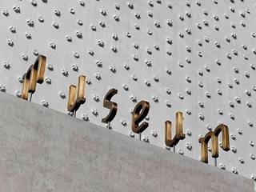
POLYGON ((254 182, 0 94, 0 191, 253 192, 254 182))

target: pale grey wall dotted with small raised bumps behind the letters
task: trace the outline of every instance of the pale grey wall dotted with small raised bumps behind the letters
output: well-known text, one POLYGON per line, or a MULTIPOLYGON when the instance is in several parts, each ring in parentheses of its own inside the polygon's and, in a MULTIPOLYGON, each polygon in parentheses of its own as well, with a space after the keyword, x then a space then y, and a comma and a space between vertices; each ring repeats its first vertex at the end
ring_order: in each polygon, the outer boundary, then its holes
MULTIPOLYGON (((102 107, 102 99, 114 87, 118 89, 113 98, 118 102, 118 114, 112 129, 130 135, 130 110, 136 105, 131 98, 137 102, 145 99, 151 105, 147 118, 150 126, 142 138, 165 147, 164 122, 174 122, 175 112, 180 110, 185 131, 191 132, 191 136, 186 134, 176 150, 197 160, 198 138, 224 122, 230 128, 232 150, 220 150, 218 166, 252 178, 256 174, 254 2, 88 0, 81 6, 82 2, 0 2, 0 90, 18 96, 22 89, 18 79, 33 64, 35 54, 44 54, 54 70, 46 69, 48 83, 37 86, 32 102, 66 113, 68 86, 76 85, 78 76, 85 74, 90 84, 86 85, 87 100, 79 109, 78 118, 88 117, 88 121, 104 126, 101 119, 108 110, 102 107), (133 9, 128 6, 131 4, 133 9), (172 26, 167 24, 168 20, 172 26), (30 21, 34 26, 28 25, 30 21), (100 25, 102 22, 105 27, 100 25), (76 35, 80 32, 82 38, 76 35), (115 34, 118 41, 113 38, 115 34), (98 41, 104 42, 104 47, 98 46, 98 41), (113 46, 117 47, 116 53, 113 46), (93 56, 89 50, 93 50, 93 56), (102 67, 98 67, 98 62, 102 62, 102 67), (149 62, 151 66, 146 65, 149 62), (78 71, 73 70, 73 65, 78 66, 78 71), (130 70, 125 69, 127 65, 130 70), (115 73, 110 69, 115 69, 115 73), (171 70, 171 74, 166 70, 171 70), (95 78, 98 74, 101 80, 95 78), (129 90, 123 88, 126 86, 129 90), (171 94, 166 94, 166 88, 170 88, 171 94), (61 93, 66 98, 61 98, 61 93), (125 126, 122 122, 126 122, 125 126), (154 137, 152 132, 158 136, 154 137), (190 146, 192 150, 188 149, 190 146)), ((211 158, 210 164, 213 165, 211 158)))

